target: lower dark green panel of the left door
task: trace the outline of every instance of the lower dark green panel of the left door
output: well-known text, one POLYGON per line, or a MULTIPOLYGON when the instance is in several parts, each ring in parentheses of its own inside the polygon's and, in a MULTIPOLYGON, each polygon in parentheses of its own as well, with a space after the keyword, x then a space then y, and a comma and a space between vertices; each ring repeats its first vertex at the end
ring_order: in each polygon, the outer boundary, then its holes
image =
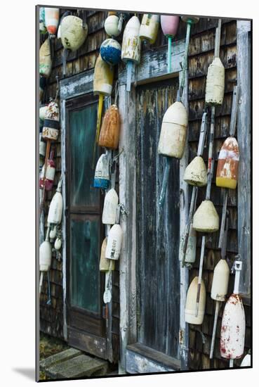
POLYGON ((71 220, 71 305, 100 312, 100 220, 71 220))

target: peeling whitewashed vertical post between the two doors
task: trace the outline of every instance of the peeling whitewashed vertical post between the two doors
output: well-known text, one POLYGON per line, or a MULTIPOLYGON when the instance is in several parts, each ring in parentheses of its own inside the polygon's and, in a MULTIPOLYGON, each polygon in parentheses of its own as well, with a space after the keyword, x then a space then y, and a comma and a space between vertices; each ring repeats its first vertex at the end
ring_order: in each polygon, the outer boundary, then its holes
POLYGON ((137 340, 136 281, 135 281, 135 87, 126 92, 126 85, 119 86, 119 113, 121 133, 119 139, 119 202, 128 215, 121 216, 123 242, 119 263, 120 283, 120 362, 119 373, 126 369, 126 345, 137 340))

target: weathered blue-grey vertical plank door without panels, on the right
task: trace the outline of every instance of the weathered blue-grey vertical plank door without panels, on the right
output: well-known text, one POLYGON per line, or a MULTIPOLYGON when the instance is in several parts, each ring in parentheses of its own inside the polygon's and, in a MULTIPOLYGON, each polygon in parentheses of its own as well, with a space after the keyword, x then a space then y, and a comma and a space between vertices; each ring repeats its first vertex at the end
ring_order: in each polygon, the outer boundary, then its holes
POLYGON ((179 160, 172 160, 160 210, 166 160, 157 146, 164 113, 175 102, 177 89, 178 78, 136 89, 138 343, 175 359, 180 329, 179 160))

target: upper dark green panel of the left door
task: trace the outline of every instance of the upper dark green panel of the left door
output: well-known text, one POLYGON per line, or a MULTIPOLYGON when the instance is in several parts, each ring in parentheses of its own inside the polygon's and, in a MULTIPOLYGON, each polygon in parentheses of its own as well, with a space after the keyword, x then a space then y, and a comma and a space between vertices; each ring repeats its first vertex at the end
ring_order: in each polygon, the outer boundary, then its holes
POLYGON ((69 114, 72 207, 99 205, 100 193, 93 188, 95 170, 92 167, 96 118, 96 103, 69 114))

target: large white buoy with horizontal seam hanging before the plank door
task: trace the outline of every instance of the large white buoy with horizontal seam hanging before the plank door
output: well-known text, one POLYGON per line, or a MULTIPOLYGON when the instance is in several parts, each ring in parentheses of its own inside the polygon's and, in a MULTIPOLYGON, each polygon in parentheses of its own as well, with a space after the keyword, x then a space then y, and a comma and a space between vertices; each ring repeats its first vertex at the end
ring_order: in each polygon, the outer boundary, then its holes
POLYGON ((187 134, 187 111, 176 101, 164 114, 159 137, 158 153, 164 156, 182 158, 187 134))

